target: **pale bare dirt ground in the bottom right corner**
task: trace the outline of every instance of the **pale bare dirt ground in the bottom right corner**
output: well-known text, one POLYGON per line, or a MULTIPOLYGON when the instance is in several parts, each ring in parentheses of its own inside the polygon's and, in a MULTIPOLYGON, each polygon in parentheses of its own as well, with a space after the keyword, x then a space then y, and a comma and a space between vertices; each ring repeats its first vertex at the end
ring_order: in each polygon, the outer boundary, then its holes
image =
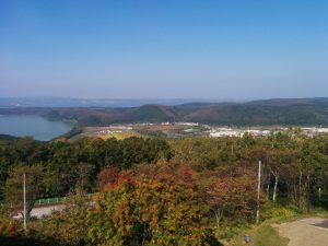
POLYGON ((290 239, 289 246, 328 246, 327 219, 311 218, 272 226, 290 239))

